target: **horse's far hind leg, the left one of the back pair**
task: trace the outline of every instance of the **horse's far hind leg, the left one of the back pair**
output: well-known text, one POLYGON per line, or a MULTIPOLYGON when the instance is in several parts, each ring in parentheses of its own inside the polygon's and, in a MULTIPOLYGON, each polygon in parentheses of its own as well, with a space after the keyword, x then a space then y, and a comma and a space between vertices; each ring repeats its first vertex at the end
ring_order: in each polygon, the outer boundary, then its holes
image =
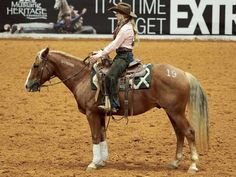
POLYGON ((183 133, 179 130, 177 127, 176 123, 174 122, 173 118, 167 113, 171 124, 175 130, 175 135, 177 139, 177 146, 176 146, 176 154, 175 154, 175 159, 171 162, 170 168, 176 169, 179 166, 180 161, 183 158, 183 145, 184 145, 184 135, 183 133))

